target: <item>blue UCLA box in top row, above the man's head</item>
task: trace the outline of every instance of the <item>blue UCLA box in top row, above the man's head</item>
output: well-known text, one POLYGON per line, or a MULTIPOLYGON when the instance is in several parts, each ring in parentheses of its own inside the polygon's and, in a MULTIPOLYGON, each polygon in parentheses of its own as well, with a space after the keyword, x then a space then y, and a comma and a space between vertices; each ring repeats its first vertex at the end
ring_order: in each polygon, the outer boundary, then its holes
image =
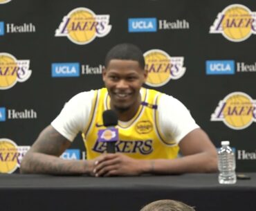
POLYGON ((130 18, 128 19, 129 33, 156 32, 156 18, 130 18))

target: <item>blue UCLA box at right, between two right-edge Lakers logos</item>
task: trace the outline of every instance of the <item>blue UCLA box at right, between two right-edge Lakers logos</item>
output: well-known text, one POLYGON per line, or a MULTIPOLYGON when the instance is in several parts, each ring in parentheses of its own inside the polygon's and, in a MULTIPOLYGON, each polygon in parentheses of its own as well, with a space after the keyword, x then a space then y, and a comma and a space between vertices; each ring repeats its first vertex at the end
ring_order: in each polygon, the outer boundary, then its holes
POLYGON ((207 75, 234 75, 234 60, 208 60, 206 61, 207 75))

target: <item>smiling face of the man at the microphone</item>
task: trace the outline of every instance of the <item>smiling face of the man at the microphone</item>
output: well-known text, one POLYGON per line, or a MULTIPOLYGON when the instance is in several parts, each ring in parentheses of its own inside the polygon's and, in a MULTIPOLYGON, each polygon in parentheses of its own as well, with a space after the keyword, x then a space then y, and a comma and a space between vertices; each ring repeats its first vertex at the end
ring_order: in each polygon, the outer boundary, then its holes
POLYGON ((111 107, 127 111, 140 104, 140 88, 147 72, 134 60, 112 59, 103 71, 103 81, 111 98, 111 107))

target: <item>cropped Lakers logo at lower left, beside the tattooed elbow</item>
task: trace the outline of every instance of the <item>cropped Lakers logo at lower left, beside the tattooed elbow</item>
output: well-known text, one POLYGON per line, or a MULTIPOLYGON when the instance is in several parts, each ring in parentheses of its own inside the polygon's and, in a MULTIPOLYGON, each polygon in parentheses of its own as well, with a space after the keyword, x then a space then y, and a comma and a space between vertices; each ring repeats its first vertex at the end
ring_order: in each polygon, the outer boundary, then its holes
POLYGON ((0 138, 0 173, 15 172, 29 148, 29 146, 18 147, 8 138, 0 138))

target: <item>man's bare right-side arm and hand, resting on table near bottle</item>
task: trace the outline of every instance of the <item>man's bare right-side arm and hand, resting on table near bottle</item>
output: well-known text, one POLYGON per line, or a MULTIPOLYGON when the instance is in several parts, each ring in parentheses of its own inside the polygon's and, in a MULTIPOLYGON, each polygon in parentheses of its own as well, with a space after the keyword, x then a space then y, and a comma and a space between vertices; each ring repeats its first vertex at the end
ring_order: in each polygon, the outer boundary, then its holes
POLYGON ((194 129, 179 143, 181 158, 136 160, 123 154, 105 154, 97 158, 95 176, 182 174, 216 172, 217 152, 202 129, 194 129))

